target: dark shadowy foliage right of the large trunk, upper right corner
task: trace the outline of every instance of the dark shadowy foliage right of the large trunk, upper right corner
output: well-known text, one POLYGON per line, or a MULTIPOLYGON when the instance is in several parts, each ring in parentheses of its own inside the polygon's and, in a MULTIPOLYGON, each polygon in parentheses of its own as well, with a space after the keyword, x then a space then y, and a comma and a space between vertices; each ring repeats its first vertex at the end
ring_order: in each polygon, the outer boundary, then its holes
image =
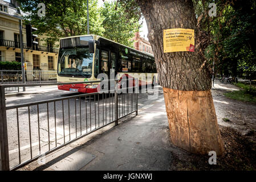
POLYGON ((207 15, 209 3, 212 1, 194 1, 198 23, 208 32, 210 45, 206 48, 206 59, 216 70, 228 76, 256 78, 255 48, 255 1, 215 1, 217 16, 207 15))

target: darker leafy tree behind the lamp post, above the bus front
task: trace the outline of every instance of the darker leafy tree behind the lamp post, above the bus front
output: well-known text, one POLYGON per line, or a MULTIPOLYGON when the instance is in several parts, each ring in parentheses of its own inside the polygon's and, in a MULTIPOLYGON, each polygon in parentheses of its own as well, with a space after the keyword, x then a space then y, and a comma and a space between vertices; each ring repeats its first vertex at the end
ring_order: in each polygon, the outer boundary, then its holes
MULTIPOLYGON (((39 35, 49 36, 47 41, 56 42, 59 38, 87 34, 87 1, 86 0, 19 0, 21 9, 30 12, 25 23, 38 28, 39 35), (46 5, 46 16, 39 17, 36 8, 39 3, 46 5)), ((90 34, 103 35, 101 26, 104 18, 100 15, 101 7, 97 0, 89 0, 90 34)))

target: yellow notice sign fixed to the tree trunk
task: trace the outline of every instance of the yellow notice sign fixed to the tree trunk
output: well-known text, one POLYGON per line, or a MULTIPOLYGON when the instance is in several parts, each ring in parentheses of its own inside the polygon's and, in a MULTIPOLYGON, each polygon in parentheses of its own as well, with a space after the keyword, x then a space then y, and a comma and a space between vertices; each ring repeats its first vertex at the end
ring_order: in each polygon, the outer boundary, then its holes
POLYGON ((164 52, 194 52, 194 30, 171 28, 164 30, 164 52))

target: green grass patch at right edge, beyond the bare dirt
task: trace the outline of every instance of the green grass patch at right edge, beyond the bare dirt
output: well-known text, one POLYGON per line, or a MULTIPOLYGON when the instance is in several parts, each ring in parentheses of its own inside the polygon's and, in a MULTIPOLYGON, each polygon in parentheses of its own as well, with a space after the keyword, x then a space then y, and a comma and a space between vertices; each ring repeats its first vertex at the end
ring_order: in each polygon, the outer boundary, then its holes
POLYGON ((249 86, 238 82, 235 84, 243 90, 235 90, 233 92, 224 93, 226 97, 232 98, 238 101, 248 101, 256 103, 256 88, 254 86, 249 86))

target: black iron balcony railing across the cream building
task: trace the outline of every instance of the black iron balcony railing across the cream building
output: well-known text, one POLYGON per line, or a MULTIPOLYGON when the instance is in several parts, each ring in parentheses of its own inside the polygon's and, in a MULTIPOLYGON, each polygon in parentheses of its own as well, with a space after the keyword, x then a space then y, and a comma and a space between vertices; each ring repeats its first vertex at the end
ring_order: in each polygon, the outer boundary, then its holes
MULTIPOLYGON (((12 40, 0 40, 0 46, 5 46, 7 49, 9 48, 20 48, 19 42, 15 42, 12 40)), ((46 46, 33 46, 33 47, 27 47, 26 43, 23 43, 23 49, 27 50, 34 50, 34 51, 42 51, 42 52, 52 52, 52 53, 58 53, 59 49, 58 48, 53 48, 53 47, 46 47, 46 46)))

